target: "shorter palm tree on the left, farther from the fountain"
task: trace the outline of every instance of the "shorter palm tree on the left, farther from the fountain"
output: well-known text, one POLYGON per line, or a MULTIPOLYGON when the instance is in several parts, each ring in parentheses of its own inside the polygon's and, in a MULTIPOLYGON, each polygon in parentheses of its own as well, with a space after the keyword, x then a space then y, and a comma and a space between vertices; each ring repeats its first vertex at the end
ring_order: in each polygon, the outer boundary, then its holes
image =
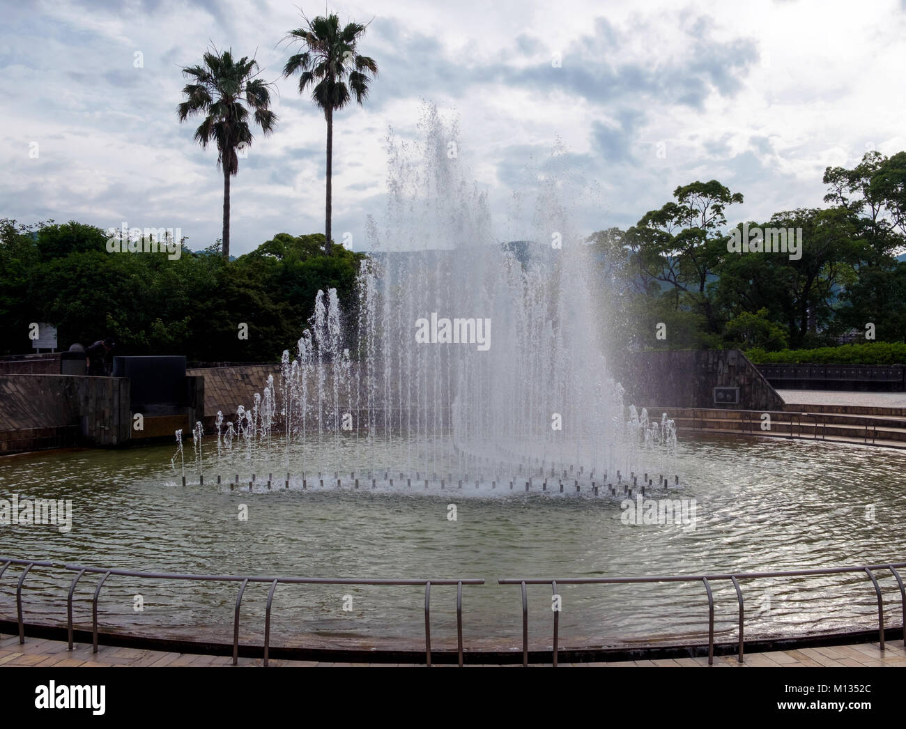
POLYGON ((235 177, 239 169, 236 149, 246 149, 254 139, 248 128, 246 104, 255 110, 255 122, 265 136, 274 131, 277 116, 268 108, 269 84, 257 78, 258 63, 254 58, 243 56, 236 62, 232 51, 217 53, 216 48, 202 58, 202 65, 182 69, 191 82, 182 90, 187 101, 179 104, 177 115, 179 121, 203 115, 195 140, 202 149, 207 149, 211 139, 217 143, 217 167, 224 173, 223 256, 229 261, 229 178, 235 177))

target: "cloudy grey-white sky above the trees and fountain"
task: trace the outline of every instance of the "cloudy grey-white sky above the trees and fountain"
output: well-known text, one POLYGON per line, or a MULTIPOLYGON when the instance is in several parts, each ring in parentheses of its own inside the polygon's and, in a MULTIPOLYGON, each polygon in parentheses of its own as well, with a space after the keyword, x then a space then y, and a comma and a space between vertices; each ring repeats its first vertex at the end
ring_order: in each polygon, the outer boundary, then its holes
MULTIPOLYGON (((0 0, 0 216, 180 227, 191 248, 213 243, 217 153, 175 110, 180 67, 214 43, 255 55, 279 116, 233 180, 233 252, 323 230, 323 115, 280 79, 297 5, 0 0)), ((358 250, 367 217, 380 222, 387 207, 388 130, 415 138, 426 103, 458 121, 457 164, 487 195, 499 240, 519 236, 514 193, 552 176, 583 191, 569 202, 587 235, 632 225, 696 179, 745 196, 730 223, 821 206, 825 167, 906 149, 906 0, 329 9, 371 21, 360 51, 380 69, 365 106, 334 123, 334 237, 351 233, 358 250)))

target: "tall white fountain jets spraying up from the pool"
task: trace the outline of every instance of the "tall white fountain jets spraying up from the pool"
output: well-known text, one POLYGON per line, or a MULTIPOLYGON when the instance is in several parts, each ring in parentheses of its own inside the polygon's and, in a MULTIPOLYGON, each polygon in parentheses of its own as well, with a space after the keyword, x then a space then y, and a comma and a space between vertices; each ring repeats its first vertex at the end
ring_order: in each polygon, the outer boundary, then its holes
MULTIPOLYGON (((524 228, 542 243, 496 242, 485 196, 448 156, 456 133, 429 108, 418 144, 391 143, 388 222, 369 220, 357 298, 319 291, 279 382, 237 408, 249 470, 282 460, 302 478, 334 473, 328 484, 361 471, 430 491, 516 480, 546 492, 560 476, 593 494, 607 474, 664 465, 676 429, 624 407, 595 267, 556 186, 524 228)), ((232 458, 221 427, 218 454, 232 458)))

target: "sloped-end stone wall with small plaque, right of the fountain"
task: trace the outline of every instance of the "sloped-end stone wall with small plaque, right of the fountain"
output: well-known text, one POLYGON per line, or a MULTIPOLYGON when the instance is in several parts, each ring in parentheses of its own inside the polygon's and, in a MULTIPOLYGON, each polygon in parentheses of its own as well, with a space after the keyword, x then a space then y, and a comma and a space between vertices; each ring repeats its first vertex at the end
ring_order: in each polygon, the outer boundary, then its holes
POLYGON ((616 363, 625 401, 657 408, 782 410, 784 400, 739 350, 632 352, 616 363), (739 388, 739 404, 717 404, 714 388, 739 388))

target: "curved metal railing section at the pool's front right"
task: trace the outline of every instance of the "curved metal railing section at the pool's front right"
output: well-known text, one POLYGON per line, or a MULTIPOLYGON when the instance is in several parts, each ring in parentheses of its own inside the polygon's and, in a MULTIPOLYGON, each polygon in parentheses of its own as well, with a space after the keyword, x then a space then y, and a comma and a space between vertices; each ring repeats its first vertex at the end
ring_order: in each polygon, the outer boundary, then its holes
MULTIPOLYGON (((729 580, 737 593, 737 603, 739 606, 739 637, 738 637, 738 661, 743 662, 743 634, 745 622, 745 609, 743 607, 742 588, 739 586, 739 580, 756 580, 775 577, 814 577, 815 575, 843 574, 847 572, 865 572, 872 580, 875 594, 878 598, 878 636, 881 649, 884 650, 884 605, 881 594, 881 586, 874 576, 876 570, 889 570, 900 586, 900 597, 903 619, 903 646, 906 647, 906 587, 897 569, 906 567, 906 562, 896 562, 893 564, 872 564, 862 567, 829 567, 819 570, 794 570, 794 571, 773 571, 773 572, 745 572, 736 574, 709 574, 709 575, 669 575, 662 577, 568 577, 568 578, 509 578, 497 580, 500 585, 520 585, 522 588, 522 665, 528 666, 528 594, 526 585, 551 585, 554 590, 554 596, 557 595, 557 585, 613 585, 613 584, 635 584, 640 582, 701 582, 708 594, 708 665, 714 663, 714 594, 711 591, 711 582, 718 580, 729 580)), ((562 608, 562 601, 560 606, 562 608)), ((560 610, 554 610, 554 641, 552 652, 552 663, 557 665, 558 650, 558 631, 560 625, 560 610)))

